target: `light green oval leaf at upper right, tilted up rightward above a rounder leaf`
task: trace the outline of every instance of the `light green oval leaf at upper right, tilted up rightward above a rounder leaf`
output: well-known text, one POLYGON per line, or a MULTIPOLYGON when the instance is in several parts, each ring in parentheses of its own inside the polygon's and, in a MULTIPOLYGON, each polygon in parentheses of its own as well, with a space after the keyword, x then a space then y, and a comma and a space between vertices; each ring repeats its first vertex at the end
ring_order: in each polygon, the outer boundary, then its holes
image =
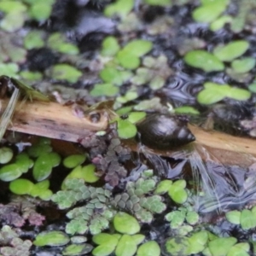
POLYGON ((250 44, 245 40, 233 41, 230 44, 220 45, 213 49, 215 55, 220 61, 233 61, 243 55, 250 44))

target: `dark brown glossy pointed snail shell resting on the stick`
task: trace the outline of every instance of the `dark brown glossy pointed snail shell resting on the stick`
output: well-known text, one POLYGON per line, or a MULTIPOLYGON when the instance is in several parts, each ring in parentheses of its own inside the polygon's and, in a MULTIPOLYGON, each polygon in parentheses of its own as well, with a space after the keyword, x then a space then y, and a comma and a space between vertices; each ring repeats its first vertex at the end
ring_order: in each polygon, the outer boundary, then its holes
POLYGON ((149 148, 174 149, 195 141, 188 120, 172 114, 153 113, 137 124, 139 140, 149 148))

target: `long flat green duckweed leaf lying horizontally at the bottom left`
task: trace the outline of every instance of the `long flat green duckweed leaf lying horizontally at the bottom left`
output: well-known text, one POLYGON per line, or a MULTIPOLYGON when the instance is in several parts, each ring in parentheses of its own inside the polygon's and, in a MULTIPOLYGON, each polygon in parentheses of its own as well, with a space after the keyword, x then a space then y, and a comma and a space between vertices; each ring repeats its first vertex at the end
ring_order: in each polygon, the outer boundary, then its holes
POLYGON ((69 242, 67 234, 61 231, 46 231, 36 236, 33 244, 37 247, 51 246, 58 247, 66 245, 69 242))

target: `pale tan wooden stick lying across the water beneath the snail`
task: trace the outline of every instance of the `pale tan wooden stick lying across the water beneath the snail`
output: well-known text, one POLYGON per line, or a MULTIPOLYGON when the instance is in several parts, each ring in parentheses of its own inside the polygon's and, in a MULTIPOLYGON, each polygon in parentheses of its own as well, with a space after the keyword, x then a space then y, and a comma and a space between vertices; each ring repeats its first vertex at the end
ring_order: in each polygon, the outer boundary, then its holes
MULTIPOLYGON (((2 100, 0 113, 3 113, 7 103, 7 100, 2 100)), ((104 114, 101 114, 98 122, 92 123, 88 117, 75 116, 70 106, 62 106, 55 102, 19 102, 8 129, 78 143, 83 137, 90 136, 96 131, 103 131, 107 127, 108 118, 104 114)), ((241 163, 241 155, 256 156, 256 143, 252 138, 204 131, 195 125, 189 125, 189 129, 196 137, 196 144, 214 151, 214 154, 218 154, 224 162, 241 163)), ((136 150, 136 145, 131 143, 131 148, 136 150)), ((160 154, 168 155, 168 152, 163 151, 160 154)))

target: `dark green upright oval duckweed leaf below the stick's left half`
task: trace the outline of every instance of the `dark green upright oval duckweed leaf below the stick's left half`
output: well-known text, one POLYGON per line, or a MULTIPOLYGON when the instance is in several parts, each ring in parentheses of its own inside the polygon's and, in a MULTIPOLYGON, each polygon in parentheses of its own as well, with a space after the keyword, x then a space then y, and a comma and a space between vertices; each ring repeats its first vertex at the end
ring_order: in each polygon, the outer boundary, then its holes
POLYGON ((35 160, 32 175, 35 180, 42 181, 49 177, 52 171, 52 161, 49 159, 50 153, 40 154, 35 160))

